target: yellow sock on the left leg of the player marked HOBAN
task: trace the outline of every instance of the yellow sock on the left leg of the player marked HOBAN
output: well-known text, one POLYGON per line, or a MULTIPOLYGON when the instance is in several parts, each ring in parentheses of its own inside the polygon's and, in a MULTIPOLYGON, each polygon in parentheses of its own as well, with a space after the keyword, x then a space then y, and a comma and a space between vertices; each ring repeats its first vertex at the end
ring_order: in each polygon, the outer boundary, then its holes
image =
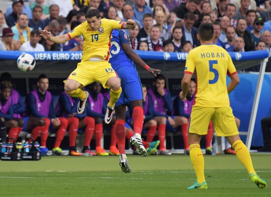
POLYGON ((200 144, 191 144, 189 146, 190 159, 199 183, 205 181, 204 177, 204 158, 200 144))

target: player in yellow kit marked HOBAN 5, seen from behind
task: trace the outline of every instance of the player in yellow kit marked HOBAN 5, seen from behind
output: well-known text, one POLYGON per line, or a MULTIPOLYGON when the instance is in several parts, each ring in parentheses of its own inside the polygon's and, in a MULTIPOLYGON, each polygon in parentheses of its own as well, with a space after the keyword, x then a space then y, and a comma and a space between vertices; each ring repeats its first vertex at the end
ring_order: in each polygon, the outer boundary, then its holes
POLYGON ((192 107, 188 128, 190 158, 197 175, 197 181, 187 189, 207 189, 204 177, 204 160, 200 141, 207 134, 210 120, 213 122, 216 134, 226 136, 236 151, 238 160, 245 166, 250 179, 259 187, 265 188, 267 183, 260 178, 252 165, 246 146, 240 140, 233 110, 230 107, 228 94, 232 92, 239 78, 236 68, 228 52, 213 44, 214 29, 209 23, 203 23, 197 35, 201 46, 191 50, 187 56, 182 92, 180 98, 185 99, 189 89, 190 79, 196 72, 196 99, 192 107), (226 84, 226 75, 231 82, 226 84))

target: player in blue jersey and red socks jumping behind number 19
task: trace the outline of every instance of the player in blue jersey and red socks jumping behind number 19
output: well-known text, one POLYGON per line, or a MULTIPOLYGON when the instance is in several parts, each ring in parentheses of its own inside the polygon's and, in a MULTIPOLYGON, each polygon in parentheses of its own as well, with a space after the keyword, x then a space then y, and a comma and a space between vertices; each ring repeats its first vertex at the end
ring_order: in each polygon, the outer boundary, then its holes
POLYGON ((128 37, 121 30, 113 30, 111 38, 111 58, 109 63, 117 72, 121 79, 122 93, 116 102, 116 138, 120 152, 120 166, 123 172, 131 172, 125 155, 125 117, 126 105, 131 104, 133 108, 133 124, 135 135, 131 137, 131 143, 136 146, 142 156, 147 156, 147 151, 142 144, 141 131, 143 127, 144 115, 142 105, 142 88, 140 78, 135 68, 135 63, 144 67, 150 73, 156 75, 159 69, 149 67, 135 53, 129 44, 128 37))

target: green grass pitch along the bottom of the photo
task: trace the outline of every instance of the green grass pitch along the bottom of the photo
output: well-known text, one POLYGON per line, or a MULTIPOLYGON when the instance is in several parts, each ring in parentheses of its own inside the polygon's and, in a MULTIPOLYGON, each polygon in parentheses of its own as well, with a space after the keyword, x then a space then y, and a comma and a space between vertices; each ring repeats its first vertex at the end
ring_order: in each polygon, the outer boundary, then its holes
MULTIPOLYGON (((271 197, 250 181, 236 156, 204 156, 208 190, 187 190, 196 180, 184 155, 128 155, 124 174, 118 157, 50 156, 41 161, 0 161, 3 197, 271 197)), ((252 154, 256 171, 271 184, 271 155, 252 154)))

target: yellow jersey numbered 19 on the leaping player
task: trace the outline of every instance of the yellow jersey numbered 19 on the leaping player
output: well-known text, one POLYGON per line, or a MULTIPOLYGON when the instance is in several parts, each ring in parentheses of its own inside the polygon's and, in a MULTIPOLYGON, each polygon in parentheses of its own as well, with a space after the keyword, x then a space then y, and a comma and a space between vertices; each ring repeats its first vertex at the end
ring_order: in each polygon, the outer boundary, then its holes
POLYGON ((108 61, 111 47, 111 34, 114 29, 122 29, 125 22, 109 19, 101 19, 101 26, 96 31, 92 31, 88 22, 80 24, 74 30, 67 33, 69 39, 78 35, 84 37, 83 56, 84 61, 108 61))

